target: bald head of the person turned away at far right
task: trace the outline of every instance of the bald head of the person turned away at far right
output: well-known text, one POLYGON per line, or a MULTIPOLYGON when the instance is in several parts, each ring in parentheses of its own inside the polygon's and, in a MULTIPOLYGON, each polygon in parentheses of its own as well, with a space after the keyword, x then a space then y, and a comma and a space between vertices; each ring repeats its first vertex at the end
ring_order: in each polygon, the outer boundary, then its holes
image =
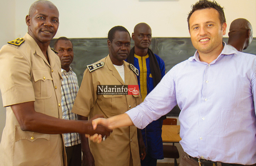
POLYGON ((250 22, 244 18, 235 19, 230 24, 228 36, 228 44, 242 52, 252 41, 252 26, 250 22))

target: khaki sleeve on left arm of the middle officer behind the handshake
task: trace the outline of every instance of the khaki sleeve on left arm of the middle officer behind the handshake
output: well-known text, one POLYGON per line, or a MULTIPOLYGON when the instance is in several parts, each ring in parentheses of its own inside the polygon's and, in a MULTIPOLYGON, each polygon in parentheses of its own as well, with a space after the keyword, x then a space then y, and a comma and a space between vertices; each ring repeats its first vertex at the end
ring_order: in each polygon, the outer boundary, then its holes
MULTIPOLYGON (((95 80, 95 79, 94 79, 95 80)), ((81 86, 75 98, 72 113, 88 117, 97 99, 97 82, 93 82, 93 74, 85 70, 81 86)))

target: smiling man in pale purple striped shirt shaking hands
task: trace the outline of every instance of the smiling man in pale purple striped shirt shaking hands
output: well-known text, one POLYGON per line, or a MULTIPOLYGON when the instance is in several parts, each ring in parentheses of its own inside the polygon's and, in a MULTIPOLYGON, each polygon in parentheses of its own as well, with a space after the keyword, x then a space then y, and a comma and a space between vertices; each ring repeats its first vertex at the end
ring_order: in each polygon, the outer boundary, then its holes
POLYGON ((144 128, 178 104, 180 166, 255 166, 256 57, 222 42, 227 24, 217 2, 198 1, 187 20, 194 56, 175 65, 143 103, 93 126, 144 128))

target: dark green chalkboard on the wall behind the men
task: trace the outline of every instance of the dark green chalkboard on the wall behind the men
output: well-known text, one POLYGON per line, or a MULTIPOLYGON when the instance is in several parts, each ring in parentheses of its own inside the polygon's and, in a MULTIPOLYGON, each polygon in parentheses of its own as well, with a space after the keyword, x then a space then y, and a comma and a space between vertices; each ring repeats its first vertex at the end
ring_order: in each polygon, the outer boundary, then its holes
MULTIPOLYGON (((52 48, 55 40, 51 41, 52 48)), ((86 65, 97 62, 108 55, 107 38, 70 40, 74 47, 74 60, 71 67, 78 77, 80 86, 86 65)), ((223 38, 223 41, 227 43, 228 38, 223 38)), ((131 46, 133 45, 134 42, 131 40, 131 46)), ((152 38, 150 49, 164 60, 166 72, 177 63, 193 56, 196 51, 190 38, 152 38)), ((244 52, 256 55, 256 38, 244 52)), ((175 107, 168 115, 178 116, 179 113, 179 108, 175 107)))

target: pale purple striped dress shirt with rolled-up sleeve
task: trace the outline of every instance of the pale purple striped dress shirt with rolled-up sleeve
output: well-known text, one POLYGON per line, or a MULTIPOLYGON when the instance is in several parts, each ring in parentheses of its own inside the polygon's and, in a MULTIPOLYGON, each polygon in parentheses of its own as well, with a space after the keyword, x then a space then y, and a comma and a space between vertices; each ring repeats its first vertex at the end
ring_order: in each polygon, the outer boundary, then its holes
POLYGON ((145 98, 127 111, 146 127, 176 104, 181 109, 180 144, 192 157, 225 163, 256 163, 256 56, 224 43, 210 64, 193 57, 175 65, 145 98))

